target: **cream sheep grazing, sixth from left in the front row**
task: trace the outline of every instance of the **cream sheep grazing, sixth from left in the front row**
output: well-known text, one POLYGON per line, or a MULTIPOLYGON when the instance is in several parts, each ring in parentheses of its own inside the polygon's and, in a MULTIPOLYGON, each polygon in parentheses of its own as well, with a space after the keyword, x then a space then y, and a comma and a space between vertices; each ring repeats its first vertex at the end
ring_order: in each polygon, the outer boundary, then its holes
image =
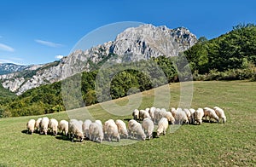
POLYGON ((82 142, 84 140, 84 134, 81 121, 71 119, 68 124, 68 133, 71 141, 73 141, 73 138, 76 137, 80 142, 82 142))

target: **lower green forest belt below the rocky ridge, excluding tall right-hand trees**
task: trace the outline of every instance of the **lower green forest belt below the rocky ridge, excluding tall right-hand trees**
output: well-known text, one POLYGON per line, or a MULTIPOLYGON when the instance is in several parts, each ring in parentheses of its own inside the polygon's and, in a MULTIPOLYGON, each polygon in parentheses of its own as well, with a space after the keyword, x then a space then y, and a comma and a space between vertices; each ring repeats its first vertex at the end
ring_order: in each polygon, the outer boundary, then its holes
POLYGON ((115 64, 104 70, 82 72, 62 82, 42 85, 29 89, 15 98, 0 100, 0 117, 60 112, 66 107, 73 109, 90 106, 135 94, 166 83, 177 82, 175 68, 171 58, 160 56, 151 60, 115 64), (63 98, 68 101, 66 104, 63 98))

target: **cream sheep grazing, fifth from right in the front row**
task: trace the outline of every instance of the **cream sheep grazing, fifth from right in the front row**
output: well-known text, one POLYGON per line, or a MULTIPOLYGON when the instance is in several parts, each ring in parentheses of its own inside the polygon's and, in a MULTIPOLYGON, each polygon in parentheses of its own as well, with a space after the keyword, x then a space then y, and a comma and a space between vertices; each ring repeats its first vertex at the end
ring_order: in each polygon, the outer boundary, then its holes
POLYGON ((113 122, 113 119, 110 119, 107 122, 107 124, 104 124, 104 130, 107 133, 108 141, 113 141, 113 137, 119 141, 120 135, 118 126, 115 124, 115 122, 113 122))

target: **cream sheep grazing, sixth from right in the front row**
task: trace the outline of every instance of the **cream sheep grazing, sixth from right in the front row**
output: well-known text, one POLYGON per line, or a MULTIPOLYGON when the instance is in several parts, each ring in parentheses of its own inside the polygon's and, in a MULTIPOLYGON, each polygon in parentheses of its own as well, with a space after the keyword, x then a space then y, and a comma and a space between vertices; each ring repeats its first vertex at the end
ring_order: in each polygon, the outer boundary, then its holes
POLYGON ((102 143, 104 138, 102 126, 98 123, 91 123, 89 126, 90 141, 98 141, 102 143))

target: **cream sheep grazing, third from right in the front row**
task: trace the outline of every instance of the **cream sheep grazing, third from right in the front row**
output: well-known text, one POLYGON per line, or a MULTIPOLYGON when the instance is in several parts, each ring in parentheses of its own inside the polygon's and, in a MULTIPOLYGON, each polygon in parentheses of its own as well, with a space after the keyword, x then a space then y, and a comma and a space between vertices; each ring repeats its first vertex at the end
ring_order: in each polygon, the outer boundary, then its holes
POLYGON ((133 137, 134 137, 134 133, 136 133, 137 139, 138 139, 138 135, 140 135, 141 138, 143 139, 143 141, 145 141, 146 135, 143 131, 143 126, 142 126, 142 124, 137 123, 136 120, 131 119, 128 122, 128 130, 130 131, 130 133, 132 134, 133 137))

